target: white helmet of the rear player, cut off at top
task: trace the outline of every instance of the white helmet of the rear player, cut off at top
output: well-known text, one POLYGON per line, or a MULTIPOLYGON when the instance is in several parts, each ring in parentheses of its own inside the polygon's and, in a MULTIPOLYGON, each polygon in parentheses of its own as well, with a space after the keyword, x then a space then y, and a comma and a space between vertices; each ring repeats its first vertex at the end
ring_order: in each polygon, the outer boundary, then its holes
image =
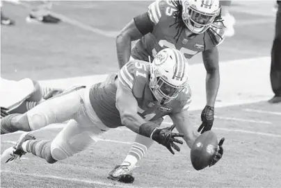
POLYGON ((192 33, 204 33, 219 14, 219 0, 182 0, 182 20, 192 33))

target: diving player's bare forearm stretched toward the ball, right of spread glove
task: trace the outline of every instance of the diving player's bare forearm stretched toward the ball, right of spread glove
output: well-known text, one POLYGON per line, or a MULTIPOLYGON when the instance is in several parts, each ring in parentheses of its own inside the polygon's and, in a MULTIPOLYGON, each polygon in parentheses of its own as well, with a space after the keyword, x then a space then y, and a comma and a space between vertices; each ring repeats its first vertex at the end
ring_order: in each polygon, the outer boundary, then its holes
POLYGON ((181 112, 172 114, 170 115, 170 118, 172 119, 172 123, 174 123, 179 133, 184 135, 183 138, 188 147, 191 148, 198 135, 195 135, 193 132, 193 126, 189 121, 188 109, 184 109, 181 112))

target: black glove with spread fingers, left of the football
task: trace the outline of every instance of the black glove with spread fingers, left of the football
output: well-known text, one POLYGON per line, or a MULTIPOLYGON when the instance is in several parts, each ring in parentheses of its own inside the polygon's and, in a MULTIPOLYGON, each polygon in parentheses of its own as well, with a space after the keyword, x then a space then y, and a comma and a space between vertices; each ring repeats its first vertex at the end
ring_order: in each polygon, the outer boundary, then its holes
POLYGON ((175 155, 175 152, 172 150, 172 148, 174 148, 176 151, 180 151, 179 146, 177 146, 175 142, 178 144, 183 144, 182 140, 176 139, 175 137, 184 137, 183 134, 172 133, 174 128, 175 125, 167 128, 155 128, 150 136, 154 141, 166 146, 172 155, 175 155))

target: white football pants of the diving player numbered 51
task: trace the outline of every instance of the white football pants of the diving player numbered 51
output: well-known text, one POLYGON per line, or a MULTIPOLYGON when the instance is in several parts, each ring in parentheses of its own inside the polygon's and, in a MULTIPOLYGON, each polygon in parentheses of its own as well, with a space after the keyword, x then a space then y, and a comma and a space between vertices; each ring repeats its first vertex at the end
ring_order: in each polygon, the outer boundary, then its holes
POLYGON ((68 121, 51 142, 51 156, 65 160, 83 151, 110 128, 104 126, 90 104, 90 87, 66 92, 26 112, 31 130, 68 121))

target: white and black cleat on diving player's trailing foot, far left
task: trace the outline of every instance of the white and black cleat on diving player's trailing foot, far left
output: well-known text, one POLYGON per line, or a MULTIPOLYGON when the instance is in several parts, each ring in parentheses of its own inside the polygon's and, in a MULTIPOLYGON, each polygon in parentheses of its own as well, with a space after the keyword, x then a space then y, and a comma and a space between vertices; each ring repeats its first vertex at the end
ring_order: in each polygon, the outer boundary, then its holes
POLYGON ((22 155, 26 154, 26 152, 23 151, 22 149, 22 144, 29 139, 35 139, 35 137, 30 133, 22 134, 19 137, 19 140, 17 141, 15 146, 6 149, 6 151, 2 153, 1 162, 3 163, 13 162, 14 160, 17 160, 19 157, 22 157, 22 155))

